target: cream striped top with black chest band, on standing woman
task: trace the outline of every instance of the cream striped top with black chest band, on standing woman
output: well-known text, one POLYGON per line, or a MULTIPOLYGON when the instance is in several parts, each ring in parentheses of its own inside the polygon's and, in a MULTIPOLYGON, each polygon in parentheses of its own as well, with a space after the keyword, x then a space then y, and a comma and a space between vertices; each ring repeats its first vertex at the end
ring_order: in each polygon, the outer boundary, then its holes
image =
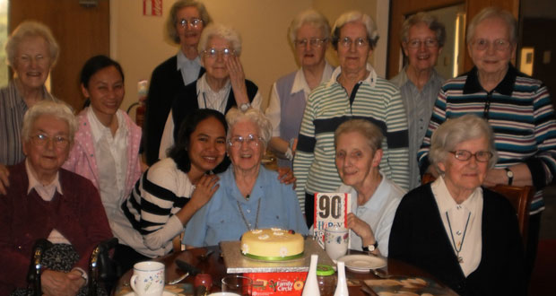
POLYGON ((369 76, 356 84, 351 97, 336 81, 340 67, 308 97, 293 161, 301 209, 306 192, 334 192, 342 184, 334 162, 334 131, 352 118, 368 119, 380 128, 385 135, 380 170, 398 186, 409 186, 407 118, 400 91, 370 65, 368 70, 369 76))

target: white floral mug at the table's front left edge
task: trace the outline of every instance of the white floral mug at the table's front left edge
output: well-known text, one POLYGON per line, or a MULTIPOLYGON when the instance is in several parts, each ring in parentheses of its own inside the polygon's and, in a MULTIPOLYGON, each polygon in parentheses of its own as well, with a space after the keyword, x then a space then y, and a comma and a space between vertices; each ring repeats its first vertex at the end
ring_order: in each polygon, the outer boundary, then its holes
POLYGON ((129 283, 137 296, 161 296, 164 292, 164 265, 155 261, 136 263, 129 283))

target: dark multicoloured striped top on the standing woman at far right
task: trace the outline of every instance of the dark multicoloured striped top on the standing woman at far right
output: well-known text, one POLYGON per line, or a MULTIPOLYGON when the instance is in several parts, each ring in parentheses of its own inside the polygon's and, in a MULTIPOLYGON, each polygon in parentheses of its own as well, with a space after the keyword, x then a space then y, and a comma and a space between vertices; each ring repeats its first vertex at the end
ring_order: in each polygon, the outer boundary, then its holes
POLYGON ((492 91, 479 83, 477 68, 442 86, 418 152, 421 172, 429 167, 430 136, 448 118, 473 113, 486 118, 494 131, 499 153, 495 168, 526 163, 536 192, 530 213, 543 211, 542 188, 556 173, 556 121, 552 100, 544 86, 509 65, 508 73, 492 91))

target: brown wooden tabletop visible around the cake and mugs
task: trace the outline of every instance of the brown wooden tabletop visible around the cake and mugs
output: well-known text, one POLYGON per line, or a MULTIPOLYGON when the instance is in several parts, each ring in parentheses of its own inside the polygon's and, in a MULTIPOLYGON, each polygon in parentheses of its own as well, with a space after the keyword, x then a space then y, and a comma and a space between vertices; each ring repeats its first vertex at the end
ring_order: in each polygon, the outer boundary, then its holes
MULTIPOLYGON (((176 259, 181 259, 192 266, 197 267, 203 274, 211 274, 213 278, 213 289, 211 292, 220 292, 220 283, 222 277, 226 275, 226 266, 224 265, 224 259, 221 256, 221 248, 218 246, 207 247, 207 248, 192 248, 185 251, 181 251, 178 253, 170 253, 167 256, 160 257, 154 259, 155 261, 160 261, 164 263, 166 266, 166 274, 165 278, 166 281, 169 282, 173 279, 177 279, 179 276, 185 274, 181 269, 176 266, 175 261, 176 259), (206 254, 209 250, 213 250, 213 253, 204 258, 203 255, 206 254)), ((349 255, 354 254, 366 254, 361 251, 356 250, 348 250, 349 255)), ((421 277, 426 279, 433 279, 434 277, 426 272, 422 271, 421 269, 410 266, 405 264, 404 262, 395 260, 395 259, 387 259, 387 266, 381 268, 381 271, 387 275, 403 275, 408 277, 421 277)), ((131 292, 129 287, 129 279, 133 274, 133 270, 129 270, 126 274, 122 275, 117 283, 117 288, 115 289, 114 295, 121 296, 126 295, 128 292, 131 292)), ((349 284, 349 292, 350 295, 365 295, 364 292, 361 291, 361 286, 365 288, 365 283, 362 283, 363 280, 378 280, 380 279, 377 275, 373 274, 372 272, 368 273, 354 273, 349 269, 345 271, 346 277, 348 279, 349 284)), ((188 276, 185 280, 181 281, 180 283, 194 283, 194 276, 188 276)), ((447 295, 456 295, 456 292, 452 292, 447 287, 441 285, 443 294, 447 295)), ((176 287, 168 286, 169 291, 177 292, 178 295, 187 295, 190 293, 180 293, 180 290, 176 287)))

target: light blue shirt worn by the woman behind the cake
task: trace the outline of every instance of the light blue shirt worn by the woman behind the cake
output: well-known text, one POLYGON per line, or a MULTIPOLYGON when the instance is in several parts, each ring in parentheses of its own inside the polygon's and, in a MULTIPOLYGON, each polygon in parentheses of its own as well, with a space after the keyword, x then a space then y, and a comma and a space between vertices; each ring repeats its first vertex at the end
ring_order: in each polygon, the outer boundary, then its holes
POLYGON ((213 198, 187 222, 184 244, 204 247, 222 240, 239 240, 248 226, 239 213, 238 202, 250 229, 275 227, 308 234, 298 198, 291 185, 280 183, 277 172, 261 166, 248 200, 239 193, 232 166, 219 177, 220 187, 213 198))

